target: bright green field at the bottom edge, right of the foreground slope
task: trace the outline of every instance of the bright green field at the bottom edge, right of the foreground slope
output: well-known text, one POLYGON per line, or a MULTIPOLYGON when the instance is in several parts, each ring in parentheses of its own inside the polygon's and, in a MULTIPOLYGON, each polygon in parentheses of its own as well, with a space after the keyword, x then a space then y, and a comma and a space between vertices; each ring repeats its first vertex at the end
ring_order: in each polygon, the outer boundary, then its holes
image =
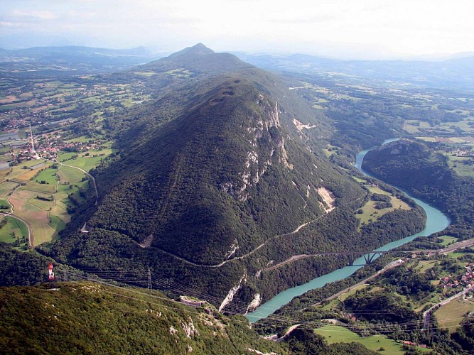
MULTIPOLYGON (((377 351, 380 354, 404 354, 402 344, 388 339, 383 335, 371 335, 370 337, 360 337, 355 332, 350 331, 346 327, 337 325, 325 325, 322 328, 315 329, 316 334, 320 334, 328 341, 333 343, 351 343, 357 342, 367 347, 367 349, 377 351), (380 350, 380 349, 384 350, 380 350)), ((429 349, 416 348, 420 351, 429 351, 429 349)))

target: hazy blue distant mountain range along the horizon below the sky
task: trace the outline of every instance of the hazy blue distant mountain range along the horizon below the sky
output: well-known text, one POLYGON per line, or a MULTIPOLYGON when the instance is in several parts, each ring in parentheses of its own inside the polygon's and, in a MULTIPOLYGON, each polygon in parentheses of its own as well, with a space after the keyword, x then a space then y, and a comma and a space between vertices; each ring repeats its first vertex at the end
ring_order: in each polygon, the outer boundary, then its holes
MULTIPOLYGON (((168 59, 155 65, 164 67, 168 63, 172 67, 175 60, 180 57, 185 58, 188 50, 170 55, 168 59)), ((212 54, 209 51, 209 48, 205 48, 202 44, 193 47, 193 53, 203 55, 200 60, 205 60, 205 55, 212 54)), ((229 56, 228 53, 218 55, 229 56)), ((267 70, 355 75, 367 80, 474 90, 474 53, 472 52, 457 53, 437 60, 338 60, 306 54, 278 56, 241 52, 235 55, 245 62, 267 70)), ((28 75, 51 75, 52 72, 63 72, 63 74, 116 72, 162 56, 163 54, 151 53, 144 47, 127 50, 80 46, 36 47, 21 50, 0 48, 0 70, 17 71, 28 75)), ((219 63, 219 61, 214 61, 214 63, 219 63)), ((195 65, 199 63, 196 62, 195 65)))

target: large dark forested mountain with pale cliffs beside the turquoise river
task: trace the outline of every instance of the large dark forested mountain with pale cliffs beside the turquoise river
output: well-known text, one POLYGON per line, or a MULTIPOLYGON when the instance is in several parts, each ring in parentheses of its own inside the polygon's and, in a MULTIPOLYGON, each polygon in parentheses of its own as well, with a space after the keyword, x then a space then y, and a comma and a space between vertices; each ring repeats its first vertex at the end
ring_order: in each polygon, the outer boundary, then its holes
POLYGON ((92 172, 97 207, 44 249, 57 261, 150 267, 221 308, 235 295, 232 310, 245 312, 257 295, 266 300, 348 258, 271 265, 303 253, 367 250, 422 229, 416 208, 359 228, 355 211, 369 193, 321 153, 328 119, 274 75, 196 45, 100 79, 140 73, 155 99, 105 119, 118 152, 92 172))

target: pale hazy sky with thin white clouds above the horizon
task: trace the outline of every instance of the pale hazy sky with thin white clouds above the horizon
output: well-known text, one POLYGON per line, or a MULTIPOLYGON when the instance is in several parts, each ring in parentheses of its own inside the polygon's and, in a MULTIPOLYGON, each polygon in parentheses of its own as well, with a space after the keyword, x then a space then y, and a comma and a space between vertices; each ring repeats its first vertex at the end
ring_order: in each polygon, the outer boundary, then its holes
POLYGON ((474 51, 473 0, 0 0, 0 47, 345 57, 474 51))

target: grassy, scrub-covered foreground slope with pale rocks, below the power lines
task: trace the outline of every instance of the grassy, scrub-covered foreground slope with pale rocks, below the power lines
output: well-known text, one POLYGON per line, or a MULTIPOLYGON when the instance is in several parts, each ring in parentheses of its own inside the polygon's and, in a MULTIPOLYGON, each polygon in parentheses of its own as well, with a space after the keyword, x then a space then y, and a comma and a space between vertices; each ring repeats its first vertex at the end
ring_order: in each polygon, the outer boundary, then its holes
POLYGON ((0 288, 2 354, 285 354, 243 317, 213 317, 159 293, 97 283, 0 288))

